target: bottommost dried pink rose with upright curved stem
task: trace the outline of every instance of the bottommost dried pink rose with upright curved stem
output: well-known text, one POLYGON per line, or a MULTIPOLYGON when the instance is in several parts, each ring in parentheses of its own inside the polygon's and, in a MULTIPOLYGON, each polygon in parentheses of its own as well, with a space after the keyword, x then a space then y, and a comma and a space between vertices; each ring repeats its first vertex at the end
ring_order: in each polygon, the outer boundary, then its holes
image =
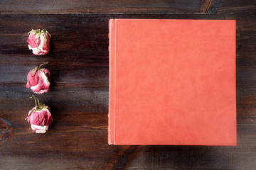
POLYGON ((50 114, 50 108, 43 106, 35 96, 36 107, 32 108, 28 112, 28 116, 25 120, 28 120, 28 124, 31 124, 33 132, 45 133, 48 130, 50 123, 53 123, 53 117, 50 114))

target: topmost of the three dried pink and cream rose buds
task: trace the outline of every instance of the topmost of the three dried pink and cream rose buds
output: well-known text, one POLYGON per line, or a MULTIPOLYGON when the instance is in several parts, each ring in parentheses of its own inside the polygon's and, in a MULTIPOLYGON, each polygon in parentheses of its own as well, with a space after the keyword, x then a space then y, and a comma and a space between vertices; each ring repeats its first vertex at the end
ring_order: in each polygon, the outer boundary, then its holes
POLYGON ((34 55, 46 55, 49 52, 50 33, 46 29, 28 32, 28 48, 34 55))

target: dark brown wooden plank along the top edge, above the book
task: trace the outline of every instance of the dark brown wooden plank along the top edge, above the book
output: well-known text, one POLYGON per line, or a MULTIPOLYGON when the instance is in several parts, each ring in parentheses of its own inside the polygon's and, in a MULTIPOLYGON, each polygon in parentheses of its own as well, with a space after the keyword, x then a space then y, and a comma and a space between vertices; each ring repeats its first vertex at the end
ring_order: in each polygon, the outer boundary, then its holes
POLYGON ((149 14, 149 13, 248 13, 255 12, 254 0, 149 0, 149 1, 31 1, 2 0, 0 13, 105 13, 105 14, 149 14))

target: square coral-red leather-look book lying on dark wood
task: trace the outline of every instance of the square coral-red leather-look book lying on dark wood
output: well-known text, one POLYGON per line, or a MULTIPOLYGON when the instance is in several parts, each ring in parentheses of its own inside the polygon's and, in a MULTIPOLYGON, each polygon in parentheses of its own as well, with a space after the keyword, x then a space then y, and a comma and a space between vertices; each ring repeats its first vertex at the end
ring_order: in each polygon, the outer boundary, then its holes
POLYGON ((235 24, 111 19, 109 145, 236 145, 235 24))

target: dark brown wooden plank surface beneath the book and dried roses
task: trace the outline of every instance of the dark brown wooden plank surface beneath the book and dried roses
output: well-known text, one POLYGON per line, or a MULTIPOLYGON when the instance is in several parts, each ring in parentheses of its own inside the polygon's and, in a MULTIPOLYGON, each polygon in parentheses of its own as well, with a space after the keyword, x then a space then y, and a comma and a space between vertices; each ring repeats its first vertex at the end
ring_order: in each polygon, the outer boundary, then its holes
MULTIPOLYGON (((255 1, 0 1, 0 169, 256 169, 255 1), (109 146, 108 20, 237 20, 238 146, 109 146), (35 56, 28 31, 46 28, 35 56), (26 75, 48 61, 53 124, 33 133, 26 75)), ((211 43, 211 42, 209 42, 211 43)))

